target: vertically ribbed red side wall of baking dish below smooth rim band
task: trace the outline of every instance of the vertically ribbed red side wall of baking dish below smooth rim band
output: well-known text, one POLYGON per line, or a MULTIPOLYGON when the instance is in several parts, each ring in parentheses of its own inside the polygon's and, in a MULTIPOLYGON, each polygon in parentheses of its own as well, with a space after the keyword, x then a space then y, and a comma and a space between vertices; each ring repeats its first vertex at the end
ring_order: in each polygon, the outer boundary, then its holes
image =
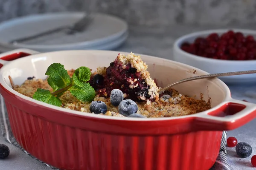
POLYGON ((108 134, 49 122, 9 102, 6 108, 21 147, 65 170, 209 170, 221 143, 221 131, 108 134))

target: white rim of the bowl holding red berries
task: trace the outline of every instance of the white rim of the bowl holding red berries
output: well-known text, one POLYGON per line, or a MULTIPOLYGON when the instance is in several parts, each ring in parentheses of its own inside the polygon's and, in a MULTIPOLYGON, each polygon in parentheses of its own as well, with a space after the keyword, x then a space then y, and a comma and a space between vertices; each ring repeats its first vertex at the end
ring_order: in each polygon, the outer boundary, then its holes
POLYGON ((201 61, 209 61, 211 60, 211 62, 215 62, 215 63, 218 63, 218 62, 226 62, 227 64, 232 62, 232 63, 247 63, 247 62, 255 62, 256 64, 256 60, 224 60, 224 59, 212 59, 212 58, 206 58, 206 57, 201 57, 201 56, 197 56, 197 55, 194 55, 194 54, 190 54, 190 53, 187 53, 186 51, 183 51, 179 44, 182 43, 182 42, 186 42, 186 40, 188 38, 191 38, 191 37, 200 37, 202 34, 211 34, 211 33, 224 33, 224 32, 227 32, 229 30, 233 30, 235 32, 241 32, 241 33, 245 33, 245 34, 252 34, 253 36, 256 36, 256 31, 253 31, 253 30, 247 30, 247 29, 215 29, 215 30, 207 30, 207 31, 198 31, 198 32, 194 32, 194 33, 191 33, 191 34, 186 34, 182 37, 179 37, 175 42, 174 42, 174 48, 175 50, 179 51, 180 53, 182 53, 183 55, 187 55, 188 57, 191 57, 191 58, 194 58, 194 59, 197 59, 197 60, 201 60, 201 61))

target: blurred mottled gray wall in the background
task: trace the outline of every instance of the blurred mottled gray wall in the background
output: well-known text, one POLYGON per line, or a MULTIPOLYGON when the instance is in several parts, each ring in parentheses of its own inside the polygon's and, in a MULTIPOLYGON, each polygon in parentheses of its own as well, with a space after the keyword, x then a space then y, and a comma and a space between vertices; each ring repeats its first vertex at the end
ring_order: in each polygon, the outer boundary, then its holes
POLYGON ((254 23, 256 19, 256 0, 0 0, 0 21, 28 14, 86 8, 147 26, 244 24, 254 23), (95 6, 89 6, 90 2, 95 6))

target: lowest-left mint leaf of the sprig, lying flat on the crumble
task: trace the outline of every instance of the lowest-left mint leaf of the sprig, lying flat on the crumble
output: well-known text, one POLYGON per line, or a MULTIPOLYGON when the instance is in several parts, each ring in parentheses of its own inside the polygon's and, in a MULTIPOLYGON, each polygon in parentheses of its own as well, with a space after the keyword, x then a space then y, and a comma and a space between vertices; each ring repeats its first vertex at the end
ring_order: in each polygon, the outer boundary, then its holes
POLYGON ((52 96, 49 90, 44 90, 38 88, 35 94, 33 95, 33 99, 36 99, 41 102, 48 103, 50 105, 61 106, 62 102, 59 98, 52 96))

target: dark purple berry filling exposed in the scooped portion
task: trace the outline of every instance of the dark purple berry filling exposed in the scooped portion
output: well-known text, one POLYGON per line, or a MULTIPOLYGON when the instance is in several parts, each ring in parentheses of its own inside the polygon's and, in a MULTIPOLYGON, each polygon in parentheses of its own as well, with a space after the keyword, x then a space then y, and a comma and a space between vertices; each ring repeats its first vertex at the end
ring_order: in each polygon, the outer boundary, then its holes
POLYGON ((106 72, 103 83, 95 83, 94 79, 97 74, 90 79, 90 84, 95 88, 98 96, 109 97, 113 89, 120 89, 127 95, 126 99, 141 101, 138 96, 144 96, 146 99, 151 97, 148 94, 149 86, 145 79, 142 79, 140 72, 131 67, 131 64, 128 63, 126 68, 123 68, 122 63, 115 59, 110 63, 106 72))

